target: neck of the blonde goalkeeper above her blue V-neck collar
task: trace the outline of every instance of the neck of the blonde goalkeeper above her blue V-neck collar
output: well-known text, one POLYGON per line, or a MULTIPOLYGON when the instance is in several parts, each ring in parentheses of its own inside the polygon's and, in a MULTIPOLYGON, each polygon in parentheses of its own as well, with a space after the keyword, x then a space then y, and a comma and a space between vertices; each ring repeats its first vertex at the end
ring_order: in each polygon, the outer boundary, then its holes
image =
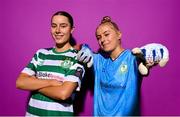
POLYGON ((122 52, 124 51, 124 48, 122 47, 117 47, 116 49, 114 49, 111 54, 110 57, 112 60, 115 60, 122 52))

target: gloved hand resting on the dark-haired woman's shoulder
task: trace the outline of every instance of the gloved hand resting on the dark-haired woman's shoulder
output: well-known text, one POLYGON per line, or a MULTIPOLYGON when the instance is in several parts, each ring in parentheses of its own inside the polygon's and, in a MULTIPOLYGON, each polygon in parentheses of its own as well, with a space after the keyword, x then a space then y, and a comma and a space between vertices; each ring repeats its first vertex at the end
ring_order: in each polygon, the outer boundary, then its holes
POLYGON ((81 50, 77 54, 77 60, 87 64, 90 68, 93 64, 93 53, 87 44, 83 44, 81 50))

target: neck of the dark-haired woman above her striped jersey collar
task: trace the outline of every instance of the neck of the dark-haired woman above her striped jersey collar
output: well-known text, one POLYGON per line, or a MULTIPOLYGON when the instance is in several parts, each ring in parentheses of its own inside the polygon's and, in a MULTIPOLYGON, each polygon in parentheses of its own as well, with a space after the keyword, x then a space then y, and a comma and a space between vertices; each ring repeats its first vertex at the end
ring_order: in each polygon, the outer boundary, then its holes
POLYGON ((67 44, 56 44, 55 50, 57 52, 64 52, 66 50, 69 50, 72 46, 67 43, 67 44))

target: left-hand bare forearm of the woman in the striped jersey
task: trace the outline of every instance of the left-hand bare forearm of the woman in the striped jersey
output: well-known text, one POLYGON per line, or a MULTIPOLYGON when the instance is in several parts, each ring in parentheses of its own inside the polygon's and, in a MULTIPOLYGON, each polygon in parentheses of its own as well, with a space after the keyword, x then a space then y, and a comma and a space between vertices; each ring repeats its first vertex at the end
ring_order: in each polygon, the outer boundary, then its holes
POLYGON ((37 79, 35 76, 28 76, 23 73, 19 75, 16 81, 16 87, 23 90, 33 91, 48 86, 51 86, 50 80, 37 79))

